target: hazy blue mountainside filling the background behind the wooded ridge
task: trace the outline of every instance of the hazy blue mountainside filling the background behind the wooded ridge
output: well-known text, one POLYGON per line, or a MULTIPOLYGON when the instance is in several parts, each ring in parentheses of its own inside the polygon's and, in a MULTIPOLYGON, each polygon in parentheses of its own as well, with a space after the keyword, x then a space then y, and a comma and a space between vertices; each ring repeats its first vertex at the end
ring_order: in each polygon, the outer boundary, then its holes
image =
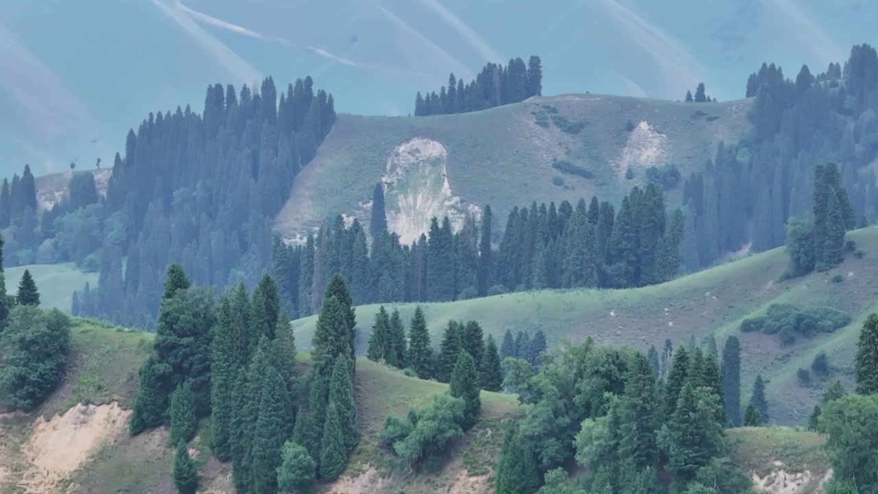
POLYGON ((736 99, 764 60, 791 72, 843 59, 874 12, 854 0, 5 2, 0 173, 112 163, 120 129, 146 113, 203 101, 206 84, 269 74, 319 77, 340 111, 380 115, 412 113, 415 91, 450 72, 469 80, 485 62, 529 54, 551 74, 546 94, 682 99, 704 82, 736 99))

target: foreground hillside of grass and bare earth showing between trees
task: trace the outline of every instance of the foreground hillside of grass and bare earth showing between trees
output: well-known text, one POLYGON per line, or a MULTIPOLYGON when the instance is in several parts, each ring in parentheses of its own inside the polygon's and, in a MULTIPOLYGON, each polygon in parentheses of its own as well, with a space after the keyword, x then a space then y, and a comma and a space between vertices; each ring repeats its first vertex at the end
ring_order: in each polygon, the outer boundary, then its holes
MULTIPOLYGON (((172 450, 165 429, 130 437, 127 418, 138 385, 137 369, 152 336, 76 320, 72 365, 61 387, 38 412, 0 415, 0 492, 176 492, 170 480, 172 450), (59 445, 67 445, 60 448, 59 445)), ((303 365, 308 356, 300 353, 303 365)), ((487 493, 499 456, 501 423, 518 415, 515 396, 482 393, 482 420, 453 449, 443 469, 417 476, 392 475, 390 457, 378 450, 377 434, 387 414, 419 408, 447 385, 421 381, 369 360, 357 362, 363 440, 348 475, 325 492, 487 493)), ((192 443, 202 491, 234 492, 230 466, 211 459, 206 446, 209 422, 192 443)), ((821 479, 827 463, 822 439, 791 429, 735 429, 729 432, 734 459, 756 479, 789 475, 821 479), (781 461, 782 468, 775 463, 781 461)), ((760 480, 761 482, 761 480, 760 480)), ((811 484, 808 484, 811 485, 811 484)), ((785 490, 799 494, 810 490, 785 490)), ((778 491, 780 492, 780 491, 778 491)))

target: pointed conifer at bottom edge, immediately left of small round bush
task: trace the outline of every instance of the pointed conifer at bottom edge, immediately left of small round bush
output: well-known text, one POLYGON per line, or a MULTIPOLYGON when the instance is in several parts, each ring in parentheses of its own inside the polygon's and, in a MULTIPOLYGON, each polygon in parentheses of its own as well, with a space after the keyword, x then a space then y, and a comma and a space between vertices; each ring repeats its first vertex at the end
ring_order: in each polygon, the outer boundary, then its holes
POLYGON ((292 418, 291 405, 284 379, 274 367, 269 367, 263 377, 259 416, 253 432, 254 494, 277 492, 277 468, 281 464, 287 424, 292 418))

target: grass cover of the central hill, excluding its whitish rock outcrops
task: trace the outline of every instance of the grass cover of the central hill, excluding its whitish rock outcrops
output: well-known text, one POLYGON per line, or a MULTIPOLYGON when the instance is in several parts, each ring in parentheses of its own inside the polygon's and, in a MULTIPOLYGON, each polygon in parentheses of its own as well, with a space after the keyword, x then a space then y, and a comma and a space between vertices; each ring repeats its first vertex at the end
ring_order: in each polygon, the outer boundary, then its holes
MULTIPOLYGON (((353 212, 363 201, 371 200, 388 154, 413 137, 441 142, 448 151, 452 192, 476 204, 490 204, 494 216, 501 219, 513 206, 532 200, 575 201, 593 194, 617 200, 644 178, 640 172, 633 181, 624 180, 612 166, 631 135, 625 128, 628 120, 634 124, 645 120, 664 134, 661 147, 666 155, 658 164, 675 163, 686 177, 713 157, 717 142, 738 141, 749 127, 749 105, 747 100, 692 105, 580 94, 531 98, 521 104, 461 115, 339 115, 313 162, 296 178, 291 198, 277 216, 276 228, 291 235, 324 217, 353 212), (549 108, 585 127, 574 135, 555 124, 550 128, 536 125, 535 114, 543 111, 551 117, 549 108), (696 111, 704 115, 696 115, 696 111), (560 173, 551 167, 553 159, 584 166, 594 178, 560 173), (572 187, 552 185, 555 175, 572 187)), ((679 202, 681 188, 670 194, 670 204, 679 202)))

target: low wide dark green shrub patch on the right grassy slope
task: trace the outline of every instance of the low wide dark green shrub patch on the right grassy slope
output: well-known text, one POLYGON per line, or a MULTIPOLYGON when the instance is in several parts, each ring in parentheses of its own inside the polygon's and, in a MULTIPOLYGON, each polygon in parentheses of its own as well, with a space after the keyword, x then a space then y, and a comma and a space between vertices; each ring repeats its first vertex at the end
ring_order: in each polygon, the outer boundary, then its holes
POLYGON ((851 316, 831 307, 807 307, 799 309, 788 303, 773 303, 765 316, 748 317, 741 322, 741 331, 762 331, 779 335, 784 345, 795 342, 796 336, 811 338, 821 333, 831 333, 851 322, 851 316))

